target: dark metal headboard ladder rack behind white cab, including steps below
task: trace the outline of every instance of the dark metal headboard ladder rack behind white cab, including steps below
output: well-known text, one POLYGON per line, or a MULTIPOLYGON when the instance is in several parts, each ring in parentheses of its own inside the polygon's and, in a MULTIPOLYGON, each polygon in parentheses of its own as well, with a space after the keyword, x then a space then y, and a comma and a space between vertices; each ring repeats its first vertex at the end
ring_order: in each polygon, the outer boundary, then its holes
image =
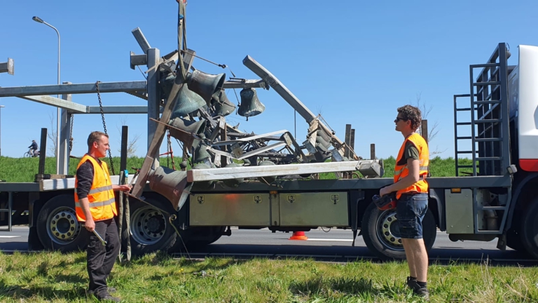
MULTIPOLYGON (((463 175, 462 168, 471 168, 472 176, 505 176, 511 178, 506 168, 510 166, 510 137, 508 109, 508 65, 510 56, 506 43, 499 43, 490 60, 485 64, 470 65, 470 93, 454 95, 454 129, 455 129, 455 164, 456 175, 463 175), (475 69, 482 69, 475 80, 475 69), (469 107, 458 107, 460 100, 468 100, 469 107), (470 102, 469 102, 470 101, 470 102), (469 112, 466 121, 462 120, 462 112, 469 112), (470 120, 469 120, 470 118, 470 120), (470 126, 470 134, 458 135, 458 126, 470 126), (471 142, 470 149, 462 149, 460 140, 471 142), (460 143, 460 144, 458 144, 460 143), (471 165, 460 164, 459 156, 471 154, 471 165)), ((469 129, 468 129, 469 130, 469 129)), ((465 144, 468 147, 467 144, 465 144)), ((474 233, 501 234, 508 215, 511 199, 511 187, 508 198, 501 206, 483 206, 478 203, 477 189, 473 188, 474 200, 474 233), (495 210, 502 212, 502 221, 498 231, 478 229, 478 212, 495 210)))

